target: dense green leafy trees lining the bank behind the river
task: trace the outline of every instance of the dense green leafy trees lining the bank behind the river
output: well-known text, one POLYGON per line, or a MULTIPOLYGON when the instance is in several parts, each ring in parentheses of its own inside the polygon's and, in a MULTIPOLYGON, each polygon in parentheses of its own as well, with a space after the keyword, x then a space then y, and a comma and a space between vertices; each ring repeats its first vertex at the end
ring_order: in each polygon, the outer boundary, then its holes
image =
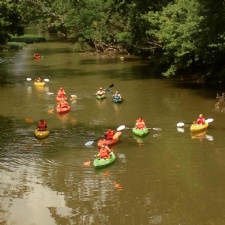
MULTIPOLYGON (((163 75, 204 71, 223 82, 224 0, 6 0, 0 44, 41 24, 96 52, 114 49, 156 60, 163 75)), ((82 48, 80 49, 82 51, 82 48)))

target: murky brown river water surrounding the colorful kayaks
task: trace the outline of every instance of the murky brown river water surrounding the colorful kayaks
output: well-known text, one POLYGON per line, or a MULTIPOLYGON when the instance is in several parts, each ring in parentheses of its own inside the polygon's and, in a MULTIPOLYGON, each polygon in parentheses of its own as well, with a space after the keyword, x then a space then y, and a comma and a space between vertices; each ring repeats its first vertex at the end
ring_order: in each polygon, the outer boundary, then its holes
POLYGON ((2 225, 221 225, 225 224, 224 116, 212 109, 215 94, 200 84, 157 78, 145 61, 77 54, 57 40, 32 44, 0 58, 0 224, 2 225), (34 53, 41 54, 34 60, 34 53), (32 81, 49 79, 46 87, 32 81), (95 99, 100 86, 119 90, 95 99), (55 93, 76 95, 65 115, 52 113, 55 93), (54 93, 54 94, 53 94, 54 93), (199 113, 213 118, 206 133, 191 135, 199 113), (142 116, 151 129, 138 138, 123 131, 112 147, 115 164, 95 170, 86 162, 107 127, 134 126, 142 116), (34 137, 34 123, 51 134, 34 137))

